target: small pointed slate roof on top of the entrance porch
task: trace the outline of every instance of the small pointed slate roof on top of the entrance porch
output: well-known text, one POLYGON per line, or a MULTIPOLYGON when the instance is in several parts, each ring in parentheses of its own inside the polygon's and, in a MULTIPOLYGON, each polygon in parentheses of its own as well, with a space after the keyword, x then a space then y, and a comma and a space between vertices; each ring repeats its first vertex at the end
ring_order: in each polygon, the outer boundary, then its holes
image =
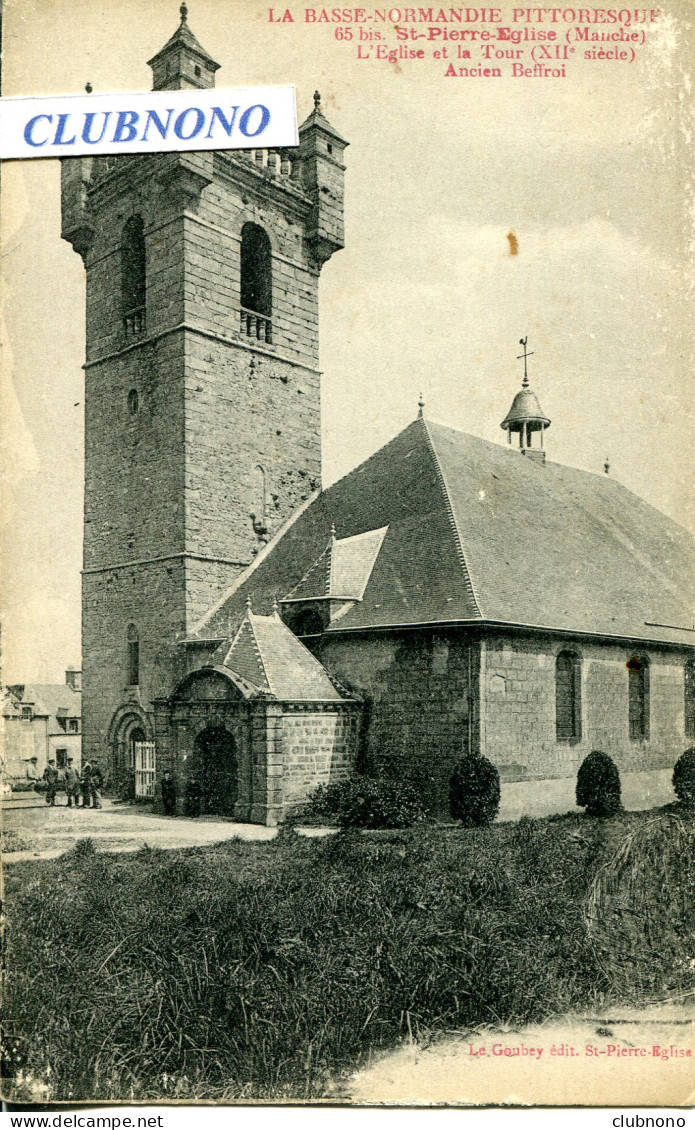
POLYGON ((301 643, 279 615, 257 616, 246 609, 240 628, 215 653, 215 663, 227 668, 279 699, 293 702, 341 701, 325 668, 301 643))

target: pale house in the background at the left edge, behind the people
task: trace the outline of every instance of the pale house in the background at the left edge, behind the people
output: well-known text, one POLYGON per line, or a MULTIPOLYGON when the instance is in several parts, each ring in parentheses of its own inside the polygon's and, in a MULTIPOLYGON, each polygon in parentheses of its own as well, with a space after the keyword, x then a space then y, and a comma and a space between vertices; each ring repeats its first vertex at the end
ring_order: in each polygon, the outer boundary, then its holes
POLYGON ((81 671, 66 671, 64 684, 20 683, 2 694, 2 775, 10 784, 41 780, 53 759, 63 771, 71 757, 81 766, 81 671))

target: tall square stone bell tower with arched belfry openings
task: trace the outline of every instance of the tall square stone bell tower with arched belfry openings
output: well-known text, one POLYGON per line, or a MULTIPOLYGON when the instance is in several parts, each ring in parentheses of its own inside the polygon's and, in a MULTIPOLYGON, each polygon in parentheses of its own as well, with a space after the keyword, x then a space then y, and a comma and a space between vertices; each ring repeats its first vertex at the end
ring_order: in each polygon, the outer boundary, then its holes
MULTIPOLYGON (((155 89, 215 85, 186 16, 155 89)), ((84 749, 139 766, 140 793, 179 641, 321 485, 318 286, 347 142, 318 95, 299 139, 62 163, 87 276, 84 749)))

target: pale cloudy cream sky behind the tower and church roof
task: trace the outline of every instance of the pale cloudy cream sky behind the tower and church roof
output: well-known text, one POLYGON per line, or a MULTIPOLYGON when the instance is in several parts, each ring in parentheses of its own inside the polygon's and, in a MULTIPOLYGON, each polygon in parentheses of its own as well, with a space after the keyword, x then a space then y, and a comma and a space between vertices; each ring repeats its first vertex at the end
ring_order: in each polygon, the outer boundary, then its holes
MULTIPOLYGON (((346 247, 320 287, 324 484, 420 392, 433 419, 504 442, 528 336, 548 458, 602 473, 608 457, 695 531, 692 5, 667 5, 634 63, 563 80, 360 61, 304 7, 271 24, 255 0, 191 0, 189 24, 217 86, 294 84, 301 120, 319 88, 350 142, 346 247)), ((148 89, 177 23, 172 0, 9 0, 3 93, 148 89)), ((2 678, 59 681, 80 662, 85 278, 58 162, 3 164, 1 223, 2 678)))

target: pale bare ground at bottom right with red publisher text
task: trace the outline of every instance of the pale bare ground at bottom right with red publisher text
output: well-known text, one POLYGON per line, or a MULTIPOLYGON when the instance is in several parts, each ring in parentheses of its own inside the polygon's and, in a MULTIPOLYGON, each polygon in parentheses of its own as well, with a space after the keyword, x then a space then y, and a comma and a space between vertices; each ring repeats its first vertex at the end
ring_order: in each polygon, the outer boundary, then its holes
POLYGON ((695 1101, 695 1006, 563 1018, 407 1044, 350 1079, 370 1105, 687 1106, 695 1101))

